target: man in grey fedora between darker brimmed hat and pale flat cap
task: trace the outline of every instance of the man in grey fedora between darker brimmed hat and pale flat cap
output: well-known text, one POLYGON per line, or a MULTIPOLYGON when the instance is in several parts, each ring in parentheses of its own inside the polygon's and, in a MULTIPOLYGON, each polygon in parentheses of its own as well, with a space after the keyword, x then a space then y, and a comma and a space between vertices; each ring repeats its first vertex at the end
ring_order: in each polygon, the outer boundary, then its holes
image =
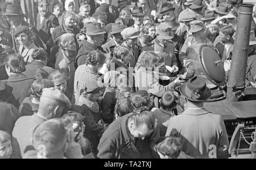
POLYGON ((122 45, 123 43, 123 37, 121 35, 121 32, 125 30, 125 26, 123 26, 122 23, 113 23, 112 24, 112 30, 110 32, 110 35, 112 35, 112 39, 109 40, 109 42, 102 45, 102 48, 105 52, 110 53, 111 49, 110 47, 122 45))

